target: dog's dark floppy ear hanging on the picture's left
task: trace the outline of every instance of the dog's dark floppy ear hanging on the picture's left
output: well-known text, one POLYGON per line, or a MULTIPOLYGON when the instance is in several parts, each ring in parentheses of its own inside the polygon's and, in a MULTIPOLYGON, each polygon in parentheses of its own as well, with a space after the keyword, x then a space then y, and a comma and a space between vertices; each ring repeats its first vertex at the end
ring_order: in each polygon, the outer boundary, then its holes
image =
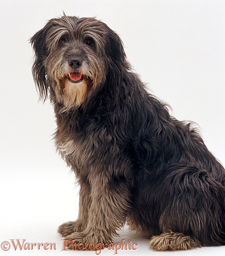
POLYGON ((39 100, 47 100, 48 98, 48 83, 46 80, 46 71, 44 62, 47 57, 47 49, 45 45, 45 27, 35 33, 30 39, 30 43, 35 52, 35 61, 32 66, 32 74, 39 92, 39 100))

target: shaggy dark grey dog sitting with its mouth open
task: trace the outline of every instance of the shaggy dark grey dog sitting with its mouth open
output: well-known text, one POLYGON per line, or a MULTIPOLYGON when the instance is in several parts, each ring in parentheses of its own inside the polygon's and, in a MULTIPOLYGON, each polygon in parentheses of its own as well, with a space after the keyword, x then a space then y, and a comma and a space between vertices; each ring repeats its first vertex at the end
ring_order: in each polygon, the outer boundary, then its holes
POLYGON ((80 185, 78 218, 58 233, 107 244, 127 223, 154 250, 225 245, 225 169, 192 123, 146 90, 116 32, 63 14, 30 42, 57 150, 80 185))

